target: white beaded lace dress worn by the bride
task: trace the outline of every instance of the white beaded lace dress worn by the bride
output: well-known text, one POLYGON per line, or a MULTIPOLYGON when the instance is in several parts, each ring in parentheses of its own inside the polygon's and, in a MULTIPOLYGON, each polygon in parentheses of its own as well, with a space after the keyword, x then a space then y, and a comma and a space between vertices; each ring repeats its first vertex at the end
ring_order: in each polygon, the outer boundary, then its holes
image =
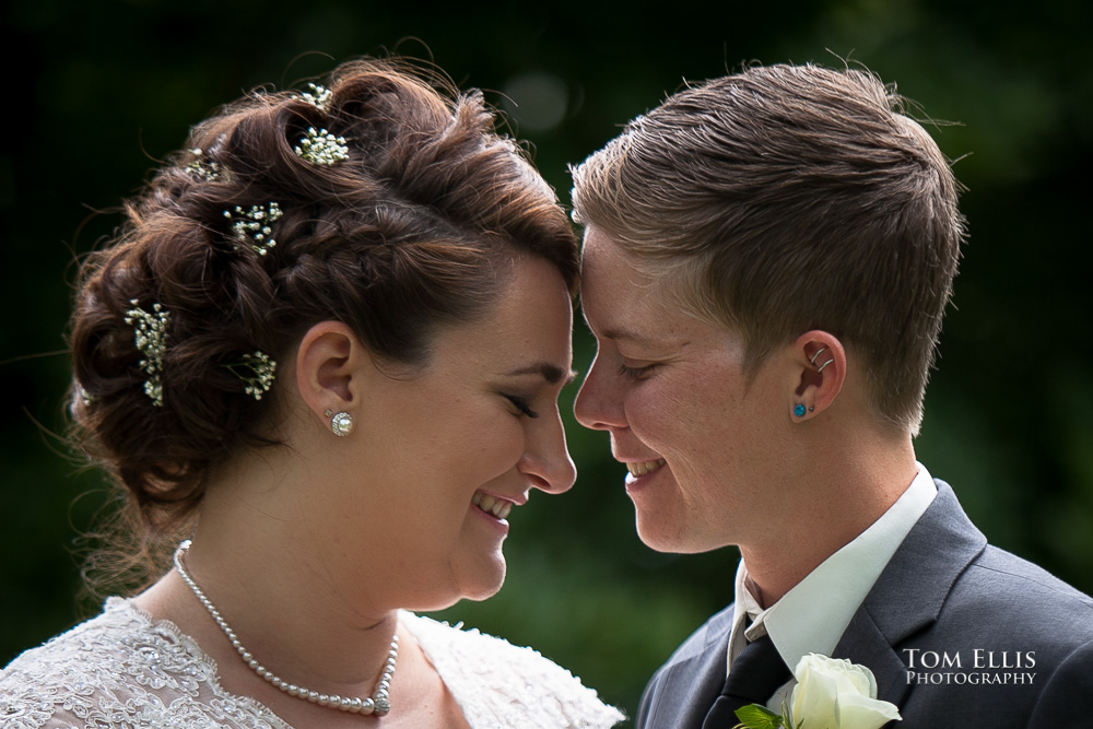
MULTIPOLYGON (((624 717, 530 648, 403 613, 472 729, 611 727, 624 717)), ((0 672, 0 727, 291 729, 262 704, 220 685, 216 665, 169 622, 130 600, 0 672)))

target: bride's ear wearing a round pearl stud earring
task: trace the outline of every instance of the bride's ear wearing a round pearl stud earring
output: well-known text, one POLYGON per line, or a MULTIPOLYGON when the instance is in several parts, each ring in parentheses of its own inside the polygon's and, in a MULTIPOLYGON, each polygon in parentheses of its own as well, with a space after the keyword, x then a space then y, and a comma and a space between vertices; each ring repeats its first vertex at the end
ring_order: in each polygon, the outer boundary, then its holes
POLYGON ((360 408, 362 365, 371 363, 367 349, 341 321, 320 321, 299 341, 296 387, 308 409, 326 426, 327 412, 353 413, 360 408))

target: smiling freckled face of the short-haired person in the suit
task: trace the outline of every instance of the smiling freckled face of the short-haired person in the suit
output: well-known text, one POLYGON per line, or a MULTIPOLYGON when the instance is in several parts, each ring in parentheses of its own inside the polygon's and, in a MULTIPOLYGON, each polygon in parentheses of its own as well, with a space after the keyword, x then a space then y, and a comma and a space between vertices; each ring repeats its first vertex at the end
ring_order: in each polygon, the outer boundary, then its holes
POLYGON ((597 353, 574 410, 626 463, 642 541, 702 552, 776 529, 794 371, 774 357, 750 379, 739 336, 673 304, 595 226, 581 307, 597 353))

